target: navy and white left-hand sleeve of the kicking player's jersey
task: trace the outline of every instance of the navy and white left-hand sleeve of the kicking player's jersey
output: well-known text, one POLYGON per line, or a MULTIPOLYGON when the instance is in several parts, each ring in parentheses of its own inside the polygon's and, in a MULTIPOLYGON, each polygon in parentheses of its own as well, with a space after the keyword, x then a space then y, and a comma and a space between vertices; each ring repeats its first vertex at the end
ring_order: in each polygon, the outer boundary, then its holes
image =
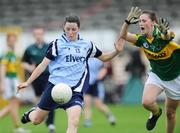
POLYGON ((46 51, 46 57, 50 60, 55 60, 58 55, 57 40, 52 41, 46 51))

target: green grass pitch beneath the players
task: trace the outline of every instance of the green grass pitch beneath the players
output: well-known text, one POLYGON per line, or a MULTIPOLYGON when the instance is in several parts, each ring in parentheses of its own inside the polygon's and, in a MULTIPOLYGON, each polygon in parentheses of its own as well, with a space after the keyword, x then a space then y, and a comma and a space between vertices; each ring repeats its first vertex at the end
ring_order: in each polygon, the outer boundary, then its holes
MULTIPOLYGON (((163 111, 156 128, 153 131, 145 129, 145 123, 149 117, 149 112, 141 105, 109 105, 114 115, 117 117, 117 125, 110 126, 106 117, 96 109, 93 109, 93 125, 90 128, 83 127, 83 116, 81 117, 78 133, 165 133, 165 113, 163 111)), ((20 114, 30 107, 22 107, 20 114)), ((164 106, 162 106, 164 108, 164 106)), ((175 133, 180 133, 180 109, 177 110, 177 126, 175 133)), ((57 133, 65 133, 67 127, 66 113, 63 110, 56 110, 55 125, 57 133)), ((32 124, 22 125, 32 133, 48 133, 44 123, 34 126, 32 124)), ((0 120, 0 133, 12 133, 13 124, 10 116, 0 120)))

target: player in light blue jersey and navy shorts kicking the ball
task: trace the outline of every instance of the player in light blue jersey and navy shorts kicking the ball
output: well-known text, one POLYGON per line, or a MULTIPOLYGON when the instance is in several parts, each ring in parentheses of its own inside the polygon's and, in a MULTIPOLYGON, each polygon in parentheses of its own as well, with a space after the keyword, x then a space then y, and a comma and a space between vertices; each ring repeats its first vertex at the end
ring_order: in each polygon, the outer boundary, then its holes
POLYGON ((118 39, 113 51, 103 53, 91 41, 83 39, 79 34, 80 20, 77 16, 67 16, 63 28, 64 34, 50 43, 46 56, 33 71, 30 78, 18 86, 19 90, 27 87, 47 66, 49 67, 49 82, 38 107, 26 112, 22 117, 22 122, 27 123, 31 121, 34 125, 37 125, 44 120, 50 110, 63 108, 68 116, 66 132, 77 133, 83 93, 89 85, 88 58, 96 57, 102 61, 108 61, 118 55, 123 49, 124 40, 118 39), (73 91, 71 100, 63 105, 55 103, 51 97, 53 86, 60 82, 71 86, 73 91))

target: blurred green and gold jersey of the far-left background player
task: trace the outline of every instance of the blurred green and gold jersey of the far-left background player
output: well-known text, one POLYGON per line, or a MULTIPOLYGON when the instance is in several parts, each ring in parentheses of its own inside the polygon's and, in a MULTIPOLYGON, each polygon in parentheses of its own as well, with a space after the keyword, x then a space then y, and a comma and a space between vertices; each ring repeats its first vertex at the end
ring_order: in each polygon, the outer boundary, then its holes
POLYGON ((6 65, 6 76, 17 76, 17 58, 14 51, 9 50, 1 60, 1 64, 6 65))

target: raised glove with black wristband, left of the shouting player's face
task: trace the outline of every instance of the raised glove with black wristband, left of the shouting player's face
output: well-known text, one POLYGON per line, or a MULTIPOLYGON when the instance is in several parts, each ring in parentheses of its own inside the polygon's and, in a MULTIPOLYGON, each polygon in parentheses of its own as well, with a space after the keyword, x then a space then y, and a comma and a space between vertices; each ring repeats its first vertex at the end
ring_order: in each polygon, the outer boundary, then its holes
POLYGON ((139 7, 132 7, 125 22, 127 24, 136 24, 139 21, 141 13, 142 10, 139 7))

